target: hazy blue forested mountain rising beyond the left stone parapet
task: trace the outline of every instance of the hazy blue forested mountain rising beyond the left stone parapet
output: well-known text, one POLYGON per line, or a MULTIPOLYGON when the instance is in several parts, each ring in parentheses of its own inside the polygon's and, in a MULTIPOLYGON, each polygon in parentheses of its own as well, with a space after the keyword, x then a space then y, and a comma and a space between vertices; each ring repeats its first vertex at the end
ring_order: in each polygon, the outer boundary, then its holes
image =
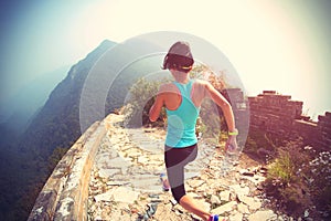
POLYGON ((138 78, 160 71, 160 54, 141 59, 156 46, 139 41, 117 45, 105 40, 73 65, 18 144, 1 154, 0 220, 25 220, 58 152, 64 154, 95 120, 121 107, 138 78), (92 112, 86 115, 86 109, 92 112))

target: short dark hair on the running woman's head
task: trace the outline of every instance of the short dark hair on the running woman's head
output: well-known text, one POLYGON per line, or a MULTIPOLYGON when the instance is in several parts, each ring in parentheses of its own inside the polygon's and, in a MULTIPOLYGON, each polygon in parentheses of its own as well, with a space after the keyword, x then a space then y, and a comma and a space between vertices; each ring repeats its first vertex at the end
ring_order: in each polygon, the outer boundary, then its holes
POLYGON ((163 70, 174 69, 181 72, 190 72, 194 64, 190 44, 175 42, 169 50, 163 61, 163 70))

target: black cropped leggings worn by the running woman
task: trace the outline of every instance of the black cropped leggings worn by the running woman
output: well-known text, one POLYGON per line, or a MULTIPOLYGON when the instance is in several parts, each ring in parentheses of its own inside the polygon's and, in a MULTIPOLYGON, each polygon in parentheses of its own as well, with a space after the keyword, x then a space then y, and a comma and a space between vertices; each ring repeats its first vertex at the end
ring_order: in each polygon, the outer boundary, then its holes
POLYGON ((184 187, 184 167, 193 161, 197 155, 197 145, 184 148, 173 148, 166 145, 164 161, 173 198, 180 199, 186 193, 184 187))

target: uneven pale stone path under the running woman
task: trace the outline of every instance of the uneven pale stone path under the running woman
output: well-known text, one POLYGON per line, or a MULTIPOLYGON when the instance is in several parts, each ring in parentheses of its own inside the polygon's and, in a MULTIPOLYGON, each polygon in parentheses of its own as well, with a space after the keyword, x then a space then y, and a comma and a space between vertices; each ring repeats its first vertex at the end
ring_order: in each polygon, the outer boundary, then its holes
MULTIPOLYGON (((125 128, 122 122, 121 115, 106 118, 108 133, 90 177, 88 220, 200 220, 162 190, 164 135, 152 128, 125 128)), ((239 164, 228 160, 220 148, 201 140, 196 160, 185 168, 188 193, 224 220, 291 220, 265 208, 259 191, 265 169, 246 168, 246 162, 245 156, 239 164)))

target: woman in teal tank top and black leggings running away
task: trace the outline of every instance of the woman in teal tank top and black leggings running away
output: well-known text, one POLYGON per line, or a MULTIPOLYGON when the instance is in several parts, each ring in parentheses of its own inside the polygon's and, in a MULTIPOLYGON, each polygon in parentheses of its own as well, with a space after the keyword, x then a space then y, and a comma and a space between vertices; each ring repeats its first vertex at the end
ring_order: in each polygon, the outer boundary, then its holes
POLYGON ((229 103, 212 84, 189 76, 194 60, 189 43, 174 43, 163 61, 163 70, 169 70, 173 83, 160 86, 157 98, 149 112, 151 122, 156 122, 162 107, 166 107, 168 128, 164 145, 164 161, 171 192, 174 199, 189 212, 204 221, 217 221, 217 214, 211 214, 199 207, 193 198, 186 194, 184 187, 184 167, 196 158, 197 138, 195 124, 204 98, 211 98, 223 113, 228 128, 227 147, 237 148, 234 114, 229 103))

